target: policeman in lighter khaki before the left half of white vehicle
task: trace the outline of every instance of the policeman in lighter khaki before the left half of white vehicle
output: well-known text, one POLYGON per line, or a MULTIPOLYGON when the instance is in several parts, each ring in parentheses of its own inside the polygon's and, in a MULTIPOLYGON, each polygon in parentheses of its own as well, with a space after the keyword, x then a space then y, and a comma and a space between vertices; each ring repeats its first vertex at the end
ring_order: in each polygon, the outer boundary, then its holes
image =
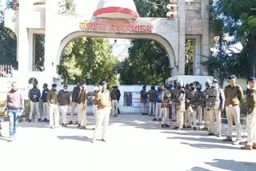
POLYGON ((175 111, 177 114, 177 126, 174 129, 181 130, 183 125, 184 114, 186 113, 186 93, 182 85, 177 85, 178 93, 174 97, 175 111))

